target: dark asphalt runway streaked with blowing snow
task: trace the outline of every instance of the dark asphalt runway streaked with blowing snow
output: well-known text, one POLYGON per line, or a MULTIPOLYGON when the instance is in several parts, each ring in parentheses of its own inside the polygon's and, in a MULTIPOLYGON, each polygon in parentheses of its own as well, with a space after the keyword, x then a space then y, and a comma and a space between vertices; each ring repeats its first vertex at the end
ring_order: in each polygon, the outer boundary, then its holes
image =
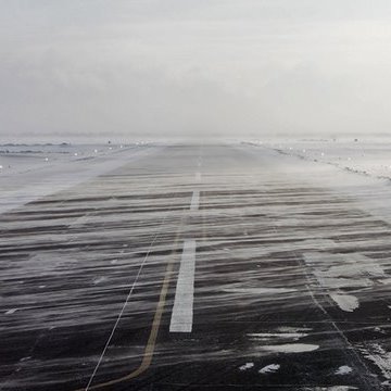
POLYGON ((304 179, 177 144, 1 214, 0 389, 389 389, 390 226, 304 179))

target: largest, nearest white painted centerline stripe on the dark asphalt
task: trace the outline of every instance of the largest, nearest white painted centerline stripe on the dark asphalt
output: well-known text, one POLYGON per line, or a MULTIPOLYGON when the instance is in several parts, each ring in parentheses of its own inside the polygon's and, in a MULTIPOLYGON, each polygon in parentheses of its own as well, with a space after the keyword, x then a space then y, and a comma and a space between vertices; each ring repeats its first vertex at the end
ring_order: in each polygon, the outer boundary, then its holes
POLYGON ((186 240, 175 292, 171 332, 191 332, 194 300, 195 240, 186 240))

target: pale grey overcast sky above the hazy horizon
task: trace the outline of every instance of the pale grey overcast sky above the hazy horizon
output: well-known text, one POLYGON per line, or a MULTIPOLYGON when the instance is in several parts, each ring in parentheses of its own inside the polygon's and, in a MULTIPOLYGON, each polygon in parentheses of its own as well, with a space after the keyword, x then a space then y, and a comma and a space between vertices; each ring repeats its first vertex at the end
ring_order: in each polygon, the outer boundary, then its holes
POLYGON ((391 130, 390 0, 0 0, 0 136, 391 130))

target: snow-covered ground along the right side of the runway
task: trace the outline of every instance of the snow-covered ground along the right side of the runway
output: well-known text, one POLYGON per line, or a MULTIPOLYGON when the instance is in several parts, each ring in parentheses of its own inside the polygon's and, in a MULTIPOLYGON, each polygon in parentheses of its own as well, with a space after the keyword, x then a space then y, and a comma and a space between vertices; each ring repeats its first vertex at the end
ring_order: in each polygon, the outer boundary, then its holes
POLYGON ((391 223, 391 138, 268 139, 243 142, 279 156, 287 175, 351 197, 391 223))

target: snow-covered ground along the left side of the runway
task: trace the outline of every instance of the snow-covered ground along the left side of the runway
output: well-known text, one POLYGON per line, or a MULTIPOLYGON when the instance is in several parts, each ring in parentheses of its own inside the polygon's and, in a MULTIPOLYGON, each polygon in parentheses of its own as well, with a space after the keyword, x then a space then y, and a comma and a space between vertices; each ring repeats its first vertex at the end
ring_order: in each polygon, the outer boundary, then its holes
POLYGON ((162 148, 133 144, 0 146, 0 213, 53 194, 162 148))

